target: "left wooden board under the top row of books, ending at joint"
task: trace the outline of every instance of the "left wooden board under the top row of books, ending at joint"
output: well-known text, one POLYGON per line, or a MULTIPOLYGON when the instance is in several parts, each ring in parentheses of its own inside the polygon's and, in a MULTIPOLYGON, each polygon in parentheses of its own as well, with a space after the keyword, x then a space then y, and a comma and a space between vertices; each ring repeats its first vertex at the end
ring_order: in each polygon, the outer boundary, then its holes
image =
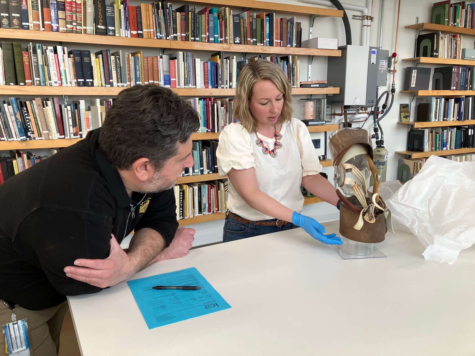
POLYGON ((107 46, 129 46, 129 47, 154 47, 170 48, 170 40, 133 38, 117 36, 86 35, 66 32, 33 31, 18 29, 0 29, 0 37, 9 39, 19 39, 26 41, 51 41, 80 43, 81 45, 107 45, 107 46))

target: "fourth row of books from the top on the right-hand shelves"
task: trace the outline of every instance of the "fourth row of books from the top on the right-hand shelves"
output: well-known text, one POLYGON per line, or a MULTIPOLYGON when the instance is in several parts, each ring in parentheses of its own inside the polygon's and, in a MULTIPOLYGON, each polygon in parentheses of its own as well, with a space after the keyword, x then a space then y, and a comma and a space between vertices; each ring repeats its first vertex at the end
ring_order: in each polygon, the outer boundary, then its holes
POLYGON ((415 121, 475 120, 475 97, 417 97, 415 121))

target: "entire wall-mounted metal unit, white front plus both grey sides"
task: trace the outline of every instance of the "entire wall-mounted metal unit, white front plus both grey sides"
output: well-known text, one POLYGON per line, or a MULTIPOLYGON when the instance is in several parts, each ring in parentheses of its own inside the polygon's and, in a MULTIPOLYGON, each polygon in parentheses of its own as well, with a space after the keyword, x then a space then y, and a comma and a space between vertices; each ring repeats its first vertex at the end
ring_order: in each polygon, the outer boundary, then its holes
POLYGON ((327 96, 332 105, 372 106, 376 87, 388 84, 389 50, 379 47, 342 46, 341 57, 328 57, 328 86, 340 94, 327 96))

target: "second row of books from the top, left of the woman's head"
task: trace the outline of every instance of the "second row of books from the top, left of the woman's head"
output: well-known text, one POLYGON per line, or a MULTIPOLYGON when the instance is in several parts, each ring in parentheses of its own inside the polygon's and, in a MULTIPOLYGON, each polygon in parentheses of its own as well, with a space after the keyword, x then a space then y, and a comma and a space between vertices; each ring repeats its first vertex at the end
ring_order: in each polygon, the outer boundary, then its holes
POLYGON ((145 56, 103 49, 67 50, 62 46, 1 42, 0 85, 130 87, 159 84, 171 88, 235 88, 236 56, 212 54, 209 61, 194 53, 145 56))

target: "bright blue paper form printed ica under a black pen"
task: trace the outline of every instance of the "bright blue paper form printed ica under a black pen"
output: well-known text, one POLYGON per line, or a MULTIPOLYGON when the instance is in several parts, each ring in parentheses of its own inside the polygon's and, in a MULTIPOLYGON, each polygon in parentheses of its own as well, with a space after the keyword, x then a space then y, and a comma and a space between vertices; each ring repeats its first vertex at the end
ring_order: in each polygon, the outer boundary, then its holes
POLYGON ((127 281, 149 329, 231 308, 194 267, 127 281), (200 290, 154 290, 153 286, 198 286, 200 290))

